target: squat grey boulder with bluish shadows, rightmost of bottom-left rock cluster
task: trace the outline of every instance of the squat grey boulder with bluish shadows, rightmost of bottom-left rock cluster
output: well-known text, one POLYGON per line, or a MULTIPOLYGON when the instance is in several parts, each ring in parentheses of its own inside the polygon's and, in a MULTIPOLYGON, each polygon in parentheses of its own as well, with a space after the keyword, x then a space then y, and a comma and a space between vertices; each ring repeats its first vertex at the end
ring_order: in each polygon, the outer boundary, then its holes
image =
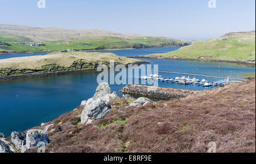
POLYGON ((26 148, 40 148, 43 145, 50 143, 47 133, 42 130, 29 130, 26 135, 26 148))

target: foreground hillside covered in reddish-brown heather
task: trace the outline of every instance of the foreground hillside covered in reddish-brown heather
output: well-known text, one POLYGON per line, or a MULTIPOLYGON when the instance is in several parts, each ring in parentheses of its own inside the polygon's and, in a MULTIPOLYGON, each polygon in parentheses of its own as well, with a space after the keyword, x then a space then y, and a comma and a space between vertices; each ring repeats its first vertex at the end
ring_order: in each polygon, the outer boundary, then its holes
POLYGON ((255 152, 255 80, 155 105, 133 101, 115 98, 91 124, 81 124, 81 105, 32 129, 52 126, 47 152, 207 152, 212 141, 217 152, 255 152))

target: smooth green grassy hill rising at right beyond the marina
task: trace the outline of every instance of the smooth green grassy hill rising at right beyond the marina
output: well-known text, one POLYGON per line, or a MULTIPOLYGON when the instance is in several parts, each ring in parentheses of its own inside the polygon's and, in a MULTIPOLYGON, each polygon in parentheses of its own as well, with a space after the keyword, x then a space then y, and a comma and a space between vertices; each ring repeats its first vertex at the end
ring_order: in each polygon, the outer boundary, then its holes
POLYGON ((170 53, 148 56, 253 61, 255 60, 255 31, 228 33, 218 38, 194 42, 170 53))

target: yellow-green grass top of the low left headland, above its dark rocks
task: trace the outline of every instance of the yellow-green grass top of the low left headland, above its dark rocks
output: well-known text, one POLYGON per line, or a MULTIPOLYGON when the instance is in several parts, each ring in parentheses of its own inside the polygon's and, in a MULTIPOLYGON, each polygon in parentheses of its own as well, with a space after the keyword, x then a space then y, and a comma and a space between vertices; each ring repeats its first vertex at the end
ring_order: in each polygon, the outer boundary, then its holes
POLYGON ((112 53, 51 53, 31 57, 1 59, 0 68, 38 70, 42 69, 42 66, 49 64, 57 64, 59 67, 70 67, 75 61, 80 60, 84 61, 84 63, 91 63, 94 66, 96 66, 96 64, 108 65, 110 60, 125 65, 139 62, 137 59, 119 57, 112 53))

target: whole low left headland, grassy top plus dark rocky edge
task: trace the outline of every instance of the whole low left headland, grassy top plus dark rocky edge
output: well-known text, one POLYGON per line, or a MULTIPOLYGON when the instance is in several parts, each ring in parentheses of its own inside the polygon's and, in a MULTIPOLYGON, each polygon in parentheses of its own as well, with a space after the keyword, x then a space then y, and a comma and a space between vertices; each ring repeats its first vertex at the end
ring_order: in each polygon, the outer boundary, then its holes
POLYGON ((23 75, 40 72, 56 72, 97 68, 100 64, 140 62, 137 59, 119 57, 112 53, 51 53, 47 55, 0 60, 0 76, 23 75))

